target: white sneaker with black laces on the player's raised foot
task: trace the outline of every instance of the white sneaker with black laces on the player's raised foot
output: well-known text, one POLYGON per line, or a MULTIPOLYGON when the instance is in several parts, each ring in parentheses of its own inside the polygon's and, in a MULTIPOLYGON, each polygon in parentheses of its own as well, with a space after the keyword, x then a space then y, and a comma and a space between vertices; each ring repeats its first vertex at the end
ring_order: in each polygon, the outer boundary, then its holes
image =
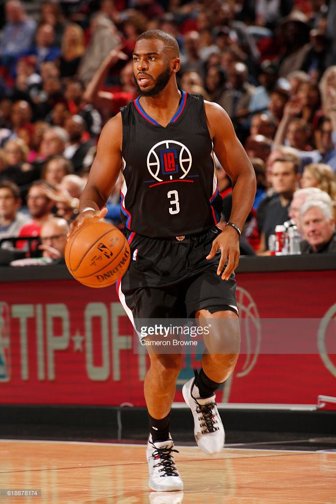
POLYGON ((192 411, 196 443, 201 450, 212 455, 220 452, 224 446, 224 427, 216 406, 216 395, 195 399, 192 396, 194 383, 195 378, 191 378, 184 384, 182 394, 192 411))

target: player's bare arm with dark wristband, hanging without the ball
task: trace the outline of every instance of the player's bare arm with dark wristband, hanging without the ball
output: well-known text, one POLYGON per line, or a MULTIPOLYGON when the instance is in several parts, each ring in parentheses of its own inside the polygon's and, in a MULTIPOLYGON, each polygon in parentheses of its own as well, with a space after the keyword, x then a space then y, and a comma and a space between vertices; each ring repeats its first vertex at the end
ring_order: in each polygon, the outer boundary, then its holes
MULTIPOLYGON (((255 197, 253 166, 225 110, 216 103, 205 102, 205 111, 214 151, 232 180, 232 210, 229 221, 242 229, 255 197)), ((239 261, 239 235, 232 226, 227 226, 214 240, 208 259, 213 258, 219 248, 221 260, 217 274, 221 274, 228 260, 222 274, 222 279, 228 280, 239 261)))

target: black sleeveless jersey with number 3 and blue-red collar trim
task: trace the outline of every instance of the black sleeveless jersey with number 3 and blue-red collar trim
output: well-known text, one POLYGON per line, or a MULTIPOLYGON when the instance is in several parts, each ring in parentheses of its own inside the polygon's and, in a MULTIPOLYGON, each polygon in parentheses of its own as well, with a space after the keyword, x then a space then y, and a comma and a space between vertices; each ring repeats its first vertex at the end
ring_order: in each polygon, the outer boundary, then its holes
POLYGON ((197 234, 220 219, 222 197, 204 99, 181 94, 165 128, 145 112, 139 98, 120 109, 122 222, 149 237, 197 234))

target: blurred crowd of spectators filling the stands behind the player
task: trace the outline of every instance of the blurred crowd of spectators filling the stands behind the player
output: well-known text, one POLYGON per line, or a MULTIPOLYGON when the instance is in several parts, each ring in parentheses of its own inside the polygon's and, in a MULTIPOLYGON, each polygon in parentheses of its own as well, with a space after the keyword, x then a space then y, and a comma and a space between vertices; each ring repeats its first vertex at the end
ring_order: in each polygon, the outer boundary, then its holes
MULTIPOLYGON (((137 96, 136 39, 161 29, 180 47, 180 88, 224 107, 254 167, 241 252, 270 254, 290 222, 302 253, 336 253, 335 18, 336 0, 0 2, 1 246, 39 236, 36 253, 62 256, 101 128, 137 96)), ((231 180, 216 163, 223 224, 231 180)))

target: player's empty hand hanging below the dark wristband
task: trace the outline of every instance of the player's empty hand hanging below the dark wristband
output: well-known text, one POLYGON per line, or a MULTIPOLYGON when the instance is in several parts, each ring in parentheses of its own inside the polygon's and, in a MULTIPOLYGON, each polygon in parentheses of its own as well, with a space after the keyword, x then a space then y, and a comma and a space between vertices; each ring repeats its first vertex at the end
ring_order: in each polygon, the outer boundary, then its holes
POLYGON ((222 274, 222 280, 229 280, 230 275, 237 268, 239 262, 239 236, 233 227, 227 226, 224 231, 214 239, 207 259, 215 257, 218 249, 221 250, 221 260, 219 262, 217 275, 222 273, 225 263, 228 260, 228 264, 222 274))

